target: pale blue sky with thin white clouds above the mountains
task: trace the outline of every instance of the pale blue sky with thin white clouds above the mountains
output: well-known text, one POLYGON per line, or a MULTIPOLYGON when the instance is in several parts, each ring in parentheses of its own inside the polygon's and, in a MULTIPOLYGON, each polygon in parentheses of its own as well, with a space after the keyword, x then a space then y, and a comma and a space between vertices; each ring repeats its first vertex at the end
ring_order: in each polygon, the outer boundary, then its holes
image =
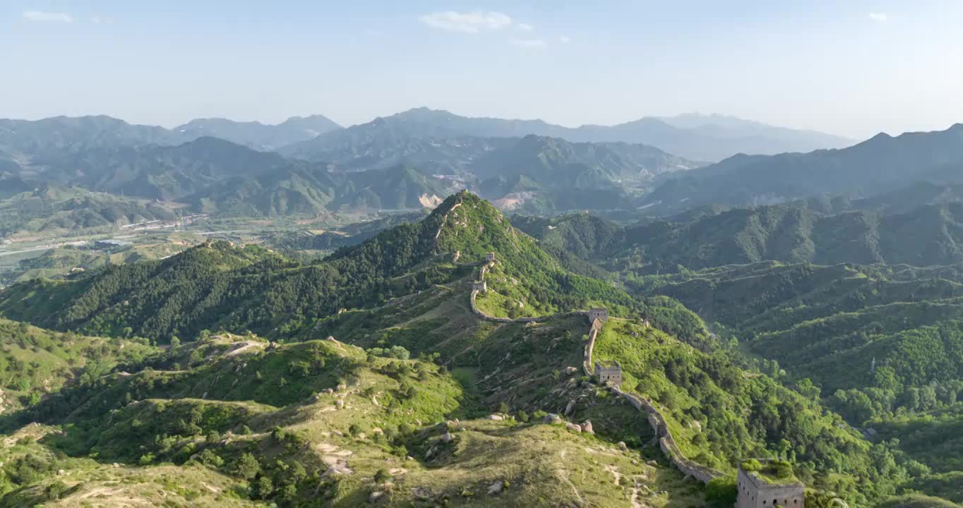
POLYGON ((963 122, 960 0, 3 0, 0 117, 963 122))

